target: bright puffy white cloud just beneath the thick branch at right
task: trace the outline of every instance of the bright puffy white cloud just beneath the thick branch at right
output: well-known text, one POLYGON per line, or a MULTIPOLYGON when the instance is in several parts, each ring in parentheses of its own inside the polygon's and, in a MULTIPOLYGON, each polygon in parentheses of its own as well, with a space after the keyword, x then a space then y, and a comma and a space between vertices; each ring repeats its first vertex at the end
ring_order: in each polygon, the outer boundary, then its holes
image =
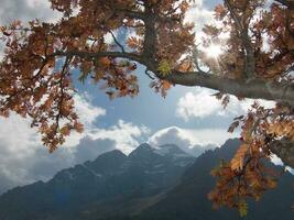
MULTIPOLYGON (((207 117, 236 117, 247 112, 254 102, 252 99, 239 101, 235 96, 230 96, 230 102, 226 109, 220 105, 213 95, 216 91, 210 89, 195 89, 195 92, 187 92, 179 98, 176 108, 176 116, 188 121, 192 118, 204 119, 207 117)), ((273 101, 255 100, 265 108, 274 107, 273 101)))

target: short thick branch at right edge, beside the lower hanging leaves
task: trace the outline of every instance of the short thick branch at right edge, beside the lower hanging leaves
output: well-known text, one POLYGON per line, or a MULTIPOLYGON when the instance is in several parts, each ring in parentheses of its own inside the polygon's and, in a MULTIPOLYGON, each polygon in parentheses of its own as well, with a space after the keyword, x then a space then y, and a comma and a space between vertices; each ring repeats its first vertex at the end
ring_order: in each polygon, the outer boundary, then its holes
POLYGON ((286 139, 273 141, 269 144, 273 154, 279 156, 284 165, 294 168, 294 142, 286 139))

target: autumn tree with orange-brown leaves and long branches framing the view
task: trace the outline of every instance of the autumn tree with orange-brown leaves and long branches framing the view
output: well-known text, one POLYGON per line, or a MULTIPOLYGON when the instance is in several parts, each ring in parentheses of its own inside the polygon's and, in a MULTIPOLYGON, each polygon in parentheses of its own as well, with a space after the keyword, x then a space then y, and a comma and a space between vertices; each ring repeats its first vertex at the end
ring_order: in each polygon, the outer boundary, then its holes
POLYGON ((0 114, 30 117, 51 152, 72 130, 83 131, 74 111, 72 69, 80 70, 81 81, 104 82, 106 94, 115 98, 138 94, 139 63, 145 66, 151 87, 163 96, 173 85, 183 85, 218 90, 216 97, 225 107, 228 95, 240 101, 276 102, 273 109, 255 102, 229 128, 232 132, 241 127, 242 144, 230 163, 213 170, 218 184, 209 198, 216 206, 237 207, 244 215, 246 197, 259 199, 275 186, 274 174, 263 165, 272 154, 294 167, 292 0, 275 0, 266 10, 264 0, 225 0, 217 6, 217 24, 204 26, 207 37, 202 46, 221 46, 218 57, 206 56, 194 43, 194 24, 184 23, 192 0, 50 1, 63 13, 58 22, 15 21, 1 26, 6 50, 0 114), (119 29, 135 36, 122 43, 115 34, 119 29), (106 34, 112 43, 107 43, 106 34))

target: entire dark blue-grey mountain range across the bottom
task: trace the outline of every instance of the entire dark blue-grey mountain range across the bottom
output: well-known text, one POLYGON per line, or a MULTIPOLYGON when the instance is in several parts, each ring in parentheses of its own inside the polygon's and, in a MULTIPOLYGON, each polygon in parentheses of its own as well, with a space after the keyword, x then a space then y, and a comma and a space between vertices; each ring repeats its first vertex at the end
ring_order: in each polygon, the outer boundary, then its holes
MULTIPOLYGON (((0 196, 0 220, 235 220, 236 210, 213 210, 209 175, 229 160, 238 140, 197 158, 174 144, 141 144, 128 156, 115 150, 57 173, 51 180, 17 187, 0 196)), ((276 167, 280 168, 280 167, 276 167)), ((250 220, 292 220, 294 176, 249 201, 250 220)), ((1 184, 1 183, 0 183, 1 184)))

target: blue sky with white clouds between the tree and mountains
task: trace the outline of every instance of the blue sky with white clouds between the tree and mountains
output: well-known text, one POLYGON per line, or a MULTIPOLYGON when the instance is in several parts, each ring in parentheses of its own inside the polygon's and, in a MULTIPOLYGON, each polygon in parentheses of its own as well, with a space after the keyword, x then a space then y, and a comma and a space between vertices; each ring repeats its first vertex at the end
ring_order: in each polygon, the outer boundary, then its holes
MULTIPOLYGON (((195 31, 213 20, 213 6, 218 1, 197 0, 187 13, 195 21, 195 31)), ((0 25, 14 19, 40 18, 56 21, 59 14, 46 0, 1 0, 0 25)), ((0 194, 15 186, 47 180, 62 168, 95 160, 102 152, 119 148, 129 154, 140 143, 159 146, 176 143, 182 148, 221 145, 238 133, 227 132, 235 117, 243 114, 252 100, 231 102, 224 109, 211 97, 216 91, 175 86, 166 98, 150 89, 150 79, 139 66, 140 94, 135 98, 109 98, 99 87, 77 84, 76 110, 85 124, 83 134, 74 133, 67 142, 48 154, 30 119, 17 114, 0 118, 0 194)), ((272 105, 264 102, 264 105, 272 105)))

